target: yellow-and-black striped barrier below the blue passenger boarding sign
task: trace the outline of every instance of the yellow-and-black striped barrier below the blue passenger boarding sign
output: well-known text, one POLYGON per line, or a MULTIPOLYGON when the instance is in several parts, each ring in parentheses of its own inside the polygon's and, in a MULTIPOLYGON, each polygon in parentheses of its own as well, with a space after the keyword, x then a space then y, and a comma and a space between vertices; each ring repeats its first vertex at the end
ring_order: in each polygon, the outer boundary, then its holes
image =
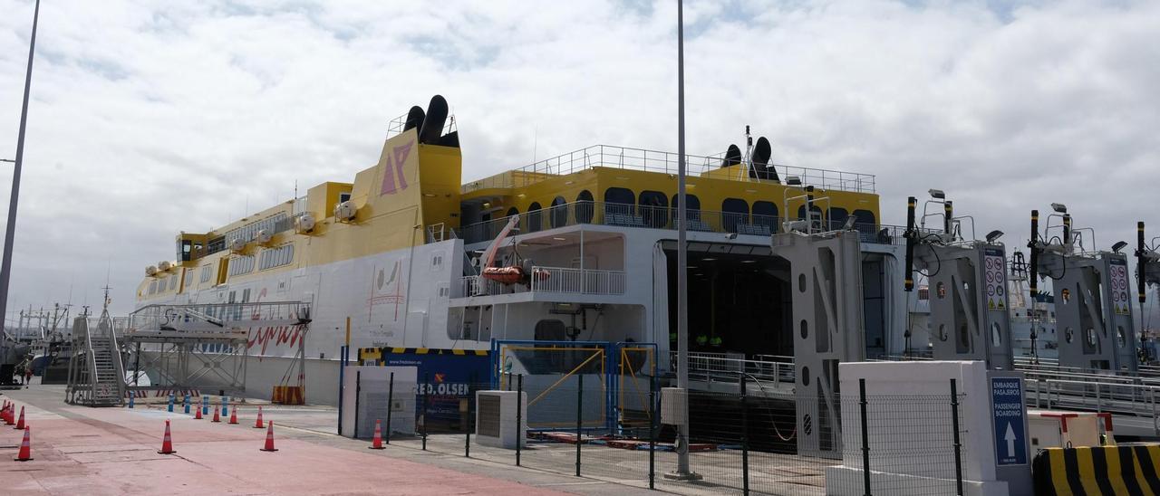
POLYGON ((1160 496, 1160 445, 1049 447, 1032 471, 1037 495, 1160 496))

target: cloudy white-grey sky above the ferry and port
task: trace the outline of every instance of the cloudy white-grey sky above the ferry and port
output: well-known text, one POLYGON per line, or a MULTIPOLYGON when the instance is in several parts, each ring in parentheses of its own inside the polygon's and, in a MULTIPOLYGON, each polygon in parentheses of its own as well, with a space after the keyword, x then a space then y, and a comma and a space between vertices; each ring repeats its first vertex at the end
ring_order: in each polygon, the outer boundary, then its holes
MULTIPOLYGON (((31 17, 0 0, 5 159, 31 17)), ((128 312, 177 231, 353 180, 435 93, 465 181, 594 144, 675 151, 675 20, 674 1, 46 0, 9 311, 99 305, 108 277, 128 312)), ((887 223, 941 188, 1009 246, 1050 202, 1100 248, 1136 220, 1160 234, 1160 2, 689 0, 686 23, 689 153, 749 124, 778 163, 876 175, 887 223)))

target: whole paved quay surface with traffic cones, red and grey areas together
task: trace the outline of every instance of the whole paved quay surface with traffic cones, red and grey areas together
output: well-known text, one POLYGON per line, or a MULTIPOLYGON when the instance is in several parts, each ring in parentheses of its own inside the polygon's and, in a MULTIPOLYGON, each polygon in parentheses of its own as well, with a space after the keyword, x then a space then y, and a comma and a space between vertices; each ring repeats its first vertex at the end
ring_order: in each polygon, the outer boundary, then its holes
MULTIPOLYGON (((23 431, 0 425, 0 494, 645 494, 587 477, 524 469, 408 446, 368 450, 336 436, 335 409, 266 406, 277 452, 259 451, 256 406, 239 424, 212 423, 164 404, 88 408, 64 402, 64 386, 2 391, 31 428, 32 461, 13 461, 23 431), (171 421, 175 454, 158 454, 171 421)), ((212 417, 212 414, 210 415, 212 417)))

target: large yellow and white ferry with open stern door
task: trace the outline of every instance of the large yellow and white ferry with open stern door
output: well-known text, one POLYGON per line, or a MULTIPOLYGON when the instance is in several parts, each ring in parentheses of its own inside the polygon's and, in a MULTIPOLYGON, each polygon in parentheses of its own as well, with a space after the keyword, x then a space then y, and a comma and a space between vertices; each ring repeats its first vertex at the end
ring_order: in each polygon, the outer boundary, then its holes
MULTIPOLYGON (((318 402, 336 401, 348 328, 355 349, 478 356, 493 338, 571 340, 657 343, 667 357, 677 155, 601 145, 463 182, 454 123, 435 96, 426 112, 415 107, 392 123, 378 163, 353 182, 181 232, 176 260, 147 268, 138 308, 310 302, 309 329, 248 330, 247 388, 269 395, 302 338, 318 402), (491 265, 515 277, 488 277, 491 265)), ((687 155, 691 349, 792 355, 788 264, 770 253, 789 218, 860 231, 867 355, 902 352, 904 333, 891 331, 906 319, 892 305, 905 298, 901 229, 880 225, 875 177, 778 166, 766 138, 746 138, 687 155)))

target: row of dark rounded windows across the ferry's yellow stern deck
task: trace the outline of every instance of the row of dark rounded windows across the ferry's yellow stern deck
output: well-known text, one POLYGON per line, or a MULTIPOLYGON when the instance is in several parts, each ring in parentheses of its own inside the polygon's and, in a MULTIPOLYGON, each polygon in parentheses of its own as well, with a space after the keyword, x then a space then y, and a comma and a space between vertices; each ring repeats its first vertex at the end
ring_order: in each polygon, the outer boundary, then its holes
MULTIPOLYGON (((689 203, 686 207, 689 221, 696 227, 696 223, 702 220, 701 199, 696 195, 688 194, 686 198, 689 203)), ((572 209, 575 223, 592 223, 595 213, 594 200, 595 198, 588 190, 582 190, 577 195, 572 209)), ((609 188, 604 190, 604 224, 665 227, 668 225, 669 217, 675 217, 676 206, 676 195, 669 198, 664 192, 645 190, 640 191, 638 196, 626 188, 609 188)), ((827 220, 833 225, 841 225, 850 217, 850 212, 842 207, 829 207, 828 216, 824 214, 819 205, 813 205, 812 211, 814 212, 813 217, 828 217, 827 220)), ((506 217, 519 213, 520 210, 513 206, 508 209, 506 217)), ((778 229, 777 213, 777 204, 773 202, 753 202, 751 207, 749 202, 745 199, 725 198, 720 207, 722 228, 737 233, 757 227, 764 234, 775 233, 778 229)), ((868 228, 872 228, 876 224, 875 214, 869 210, 855 210, 853 216, 857 219, 858 225, 868 226, 868 228)), ((798 207, 797 218, 804 219, 805 217, 805 205, 802 205, 798 207)), ((552 199, 548 209, 544 209, 539 202, 532 202, 528 205, 528 231, 566 225, 568 225, 568 202, 563 196, 552 199)))

